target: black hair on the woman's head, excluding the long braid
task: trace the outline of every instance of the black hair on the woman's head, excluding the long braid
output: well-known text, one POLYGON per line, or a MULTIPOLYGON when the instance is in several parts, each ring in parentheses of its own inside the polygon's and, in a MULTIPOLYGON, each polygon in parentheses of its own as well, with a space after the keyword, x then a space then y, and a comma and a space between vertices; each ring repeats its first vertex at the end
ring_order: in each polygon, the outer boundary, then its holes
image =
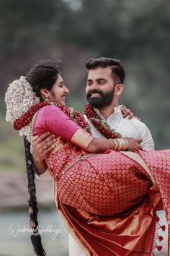
POLYGON ((26 79, 32 86, 33 92, 43 101, 40 94, 42 88, 51 90, 54 83, 58 79, 58 74, 63 71, 63 63, 61 61, 52 61, 49 59, 39 61, 26 74, 26 79))

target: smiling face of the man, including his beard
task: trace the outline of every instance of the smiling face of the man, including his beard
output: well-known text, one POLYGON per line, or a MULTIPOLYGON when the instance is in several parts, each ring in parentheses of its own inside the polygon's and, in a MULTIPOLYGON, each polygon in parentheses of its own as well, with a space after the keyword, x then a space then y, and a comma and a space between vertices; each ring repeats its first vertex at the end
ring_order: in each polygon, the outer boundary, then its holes
POLYGON ((115 83, 109 67, 89 70, 86 99, 94 108, 109 106, 115 95, 115 83))

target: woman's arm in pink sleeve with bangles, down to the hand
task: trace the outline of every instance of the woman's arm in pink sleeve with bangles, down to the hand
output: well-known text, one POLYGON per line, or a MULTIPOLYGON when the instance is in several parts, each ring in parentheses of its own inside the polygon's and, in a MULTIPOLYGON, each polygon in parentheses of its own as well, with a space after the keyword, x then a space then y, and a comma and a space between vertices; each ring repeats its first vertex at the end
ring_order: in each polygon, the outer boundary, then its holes
POLYGON ((80 148, 87 150, 89 153, 104 153, 107 150, 139 148, 138 143, 140 142, 140 140, 133 138, 127 138, 127 140, 95 139, 56 106, 45 106, 41 108, 35 121, 35 133, 38 129, 40 131, 43 129, 44 132, 50 132, 50 134, 60 136, 78 145, 80 148))

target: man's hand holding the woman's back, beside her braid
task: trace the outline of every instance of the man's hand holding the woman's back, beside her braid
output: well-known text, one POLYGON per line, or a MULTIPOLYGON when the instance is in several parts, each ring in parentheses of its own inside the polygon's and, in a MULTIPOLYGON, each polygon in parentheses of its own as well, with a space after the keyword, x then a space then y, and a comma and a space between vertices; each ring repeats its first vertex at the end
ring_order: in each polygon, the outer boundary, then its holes
POLYGON ((55 135, 49 135, 50 133, 46 132, 40 137, 32 137, 33 159, 38 174, 43 174, 47 170, 48 166, 45 163, 45 158, 55 148, 55 135))

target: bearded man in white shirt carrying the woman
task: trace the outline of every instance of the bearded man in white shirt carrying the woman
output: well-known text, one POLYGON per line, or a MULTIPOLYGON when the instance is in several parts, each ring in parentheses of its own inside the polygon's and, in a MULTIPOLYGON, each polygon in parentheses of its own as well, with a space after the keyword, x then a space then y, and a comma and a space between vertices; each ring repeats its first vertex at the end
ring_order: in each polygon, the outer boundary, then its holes
MULTIPOLYGON (((111 58, 89 59, 86 62, 86 69, 89 70, 86 83, 86 98, 89 105, 93 107, 94 114, 96 114, 98 121, 95 122, 91 119, 89 107, 86 107, 85 117, 86 121, 88 121, 91 126, 91 132, 94 137, 104 137, 104 135, 99 132, 99 130, 101 130, 99 127, 102 127, 102 122, 104 121, 107 122, 109 127, 119 132, 122 137, 134 137, 135 139, 142 140, 140 146, 143 150, 153 150, 153 138, 146 124, 136 118, 123 119, 122 117, 118 101, 124 89, 123 82, 125 72, 121 62, 111 58)), ((45 156, 53 150, 53 138, 49 137, 43 140, 45 137, 46 135, 42 135, 42 137, 38 138, 33 143, 35 166, 37 170, 42 168, 45 170, 45 156)), ((41 179, 46 179, 47 176, 48 171, 41 175, 41 179)), ((163 224, 165 225, 164 211, 158 211, 157 215, 160 218, 159 224, 161 223, 161 226, 163 224)), ((155 241, 156 249, 154 253, 158 255, 158 249, 161 249, 160 255, 164 255, 164 252, 166 252, 165 248, 167 247, 167 242, 165 241, 167 236, 167 224, 166 231, 159 229, 156 235, 164 239, 161 241, 157 239, 155 241)), ((85 255, 72 236, 69 236, 69 253, 74 256, 85 255)))

